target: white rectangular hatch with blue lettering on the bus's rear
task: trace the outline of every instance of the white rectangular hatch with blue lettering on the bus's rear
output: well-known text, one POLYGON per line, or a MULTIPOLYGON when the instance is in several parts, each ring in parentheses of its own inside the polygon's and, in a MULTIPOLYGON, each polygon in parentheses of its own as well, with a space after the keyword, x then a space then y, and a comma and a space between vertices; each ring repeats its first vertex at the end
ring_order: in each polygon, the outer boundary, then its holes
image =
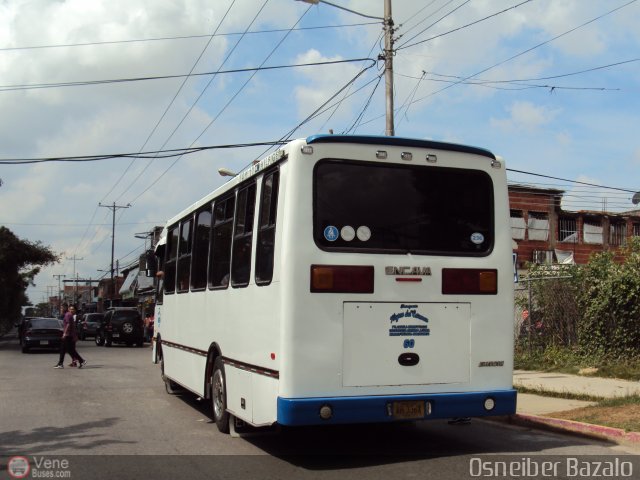
POLYGON ((464 303, 345 302, 345 387, 469 383, 464 303))

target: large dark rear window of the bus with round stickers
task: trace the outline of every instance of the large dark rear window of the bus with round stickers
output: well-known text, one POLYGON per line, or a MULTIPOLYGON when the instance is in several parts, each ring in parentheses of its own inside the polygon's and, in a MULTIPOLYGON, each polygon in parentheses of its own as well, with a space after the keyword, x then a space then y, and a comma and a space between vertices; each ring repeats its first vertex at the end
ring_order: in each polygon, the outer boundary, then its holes
POLYGON ((313 201, 323 250, 482 256, 493 248, 493 183, 479 170, 323 160, 313 201))

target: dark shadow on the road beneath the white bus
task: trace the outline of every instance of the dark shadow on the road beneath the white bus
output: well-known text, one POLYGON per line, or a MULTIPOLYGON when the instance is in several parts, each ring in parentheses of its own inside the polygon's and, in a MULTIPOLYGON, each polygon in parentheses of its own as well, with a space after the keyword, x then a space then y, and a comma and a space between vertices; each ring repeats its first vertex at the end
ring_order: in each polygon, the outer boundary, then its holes
MULTIPOLYGON (((174 397, 212 419, 210 401, 180 390, 174 397)), ((532 431, 504 421, 472 419, 450 425, 447 419, 423 422, 245 428, 240 437, 266 454, 308 470, 392 465, 411 460, 470 455, 530 454, 593 443, 580 437, 532 431), (509 440, 506 440, 509 439, 509 440)), ((229 441, 233 441, 229 438, 229 441)), ((613 445, 601 442, 603 445, 613 445)))

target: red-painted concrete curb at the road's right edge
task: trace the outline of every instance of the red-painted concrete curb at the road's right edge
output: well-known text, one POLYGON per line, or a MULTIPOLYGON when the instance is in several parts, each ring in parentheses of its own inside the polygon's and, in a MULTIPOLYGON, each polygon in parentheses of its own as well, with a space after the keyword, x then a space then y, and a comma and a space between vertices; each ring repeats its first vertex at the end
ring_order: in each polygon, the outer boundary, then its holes
POLYGON ((576 433, 588 437, 610 440, 615 443, 632 443, 640 445, 640 432, 627 432, 621 428, 604 427, 590 423, 576 422, 561 418, 542 417, 526 413, 516 413, 508 416, 509 423, 546 428, 562 432, 576 433))

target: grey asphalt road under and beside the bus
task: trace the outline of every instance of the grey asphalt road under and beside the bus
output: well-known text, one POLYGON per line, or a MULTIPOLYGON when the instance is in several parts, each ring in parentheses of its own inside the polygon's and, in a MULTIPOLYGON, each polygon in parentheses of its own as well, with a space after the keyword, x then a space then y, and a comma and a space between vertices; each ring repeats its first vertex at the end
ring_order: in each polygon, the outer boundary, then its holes
MULTIPOLYGON (((34 471, 44 476, 42 462, 53 459, 70 463, 66 477, 64 465, 53 465, 58 478, 460 479, 481 476, 470 469, 502 458, 493 455, 522 464, 613 455, 607 458, 633 459, 633 476, 640 475, 640 457, 623 456, 639 452, 626 447, 477 419, 234 438, 218 432, 208 404, 165 392, 150 346, 81 341, 78 351, 86 368, 55 370, 56 352, 23 354, 17 340, 0 339, 0 478, 10 478, 7 462, 15 456, 29 460, 28 478, 34 471)), ((526 478, 543 477, 533 473, 526 478)))

